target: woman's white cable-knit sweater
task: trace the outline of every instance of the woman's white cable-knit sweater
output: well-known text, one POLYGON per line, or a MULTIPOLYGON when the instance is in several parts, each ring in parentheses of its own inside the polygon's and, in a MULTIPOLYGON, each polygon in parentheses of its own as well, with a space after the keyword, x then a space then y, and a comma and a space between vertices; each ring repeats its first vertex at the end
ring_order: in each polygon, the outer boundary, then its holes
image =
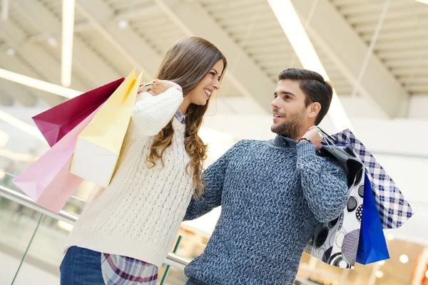
POLYGON ((96 252, 132 257, 161 267, 193 194, 185 173, 185 125, 173 119, 174 136, 163 161, 148 169, 154 135, 173 118, 183 93, 170 88, 138 95, 116 174, 100 197, 81 214, 66 240, 96 252))

